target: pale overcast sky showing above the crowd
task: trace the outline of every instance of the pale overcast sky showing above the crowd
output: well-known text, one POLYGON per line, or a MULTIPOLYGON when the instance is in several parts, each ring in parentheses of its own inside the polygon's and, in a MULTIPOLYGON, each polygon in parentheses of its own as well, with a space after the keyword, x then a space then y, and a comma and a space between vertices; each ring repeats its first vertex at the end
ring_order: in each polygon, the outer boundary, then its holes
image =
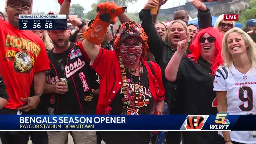
MULTIPOLYGON (((4 11, 4 5, 6 0, 0 0, 0 11, 4 11)), ((97 0, 72 0, 72 4, 80 4, 84 7, 85 13, 91 10, 91 4, 95 3, 97 0)), ((128 12, 139 12, 145 5, 147 0, 138 0, 134 4, 128 5, 128 12)), ((168 0, 161 9, 171 8, 173 6, 183 5, 185 0, 168 0)), ((59 12, 59 4, 57 0, 34 0, 33 2, 33 12, 45 12, 49 11, 59 12)))

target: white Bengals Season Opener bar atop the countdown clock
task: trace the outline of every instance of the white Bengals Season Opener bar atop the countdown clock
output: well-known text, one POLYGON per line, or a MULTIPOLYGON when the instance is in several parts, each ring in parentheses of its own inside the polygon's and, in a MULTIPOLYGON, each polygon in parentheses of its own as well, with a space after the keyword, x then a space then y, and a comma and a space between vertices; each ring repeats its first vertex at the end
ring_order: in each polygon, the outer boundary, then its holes
POLYGON ((67 15, 20 15, 20 19, 67 19, 67 15))

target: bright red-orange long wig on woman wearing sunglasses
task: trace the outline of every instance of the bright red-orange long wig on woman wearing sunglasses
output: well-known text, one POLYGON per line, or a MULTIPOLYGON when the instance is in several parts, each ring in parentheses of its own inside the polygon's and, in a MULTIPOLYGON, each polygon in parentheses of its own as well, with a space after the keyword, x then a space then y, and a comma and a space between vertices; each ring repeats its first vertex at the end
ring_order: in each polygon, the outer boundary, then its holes
POLYGON ((208 33, 210 36, 215 38, 216 56, 214 57, 213 63, 211 65, 212 74, 215 75, 218 67, 223 65, 223 59, 221 57, 223 36, 216 28, 208 27, 200 30, 189 47, 192 54, 187 55, 187 57, 191 57, 193 61, 197 62, 197 60, 201 56, 202 51, 202 48, 200 46, 200 38, 205 33, 208 33))

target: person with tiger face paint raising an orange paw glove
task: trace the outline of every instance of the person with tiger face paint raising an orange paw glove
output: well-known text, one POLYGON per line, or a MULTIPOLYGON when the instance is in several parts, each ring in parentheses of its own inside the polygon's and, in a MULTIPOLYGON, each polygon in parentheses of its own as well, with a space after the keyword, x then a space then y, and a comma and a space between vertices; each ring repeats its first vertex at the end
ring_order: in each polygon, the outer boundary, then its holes
MULTIPOLYGON (((156 63, 146 61, 149 47, 144 30, 135 22, 125 22, 116 32, 114 51, 103 49, 97 46, 102 39, 99 36, 106 33, 106 23, 115 23, 116 16, 125 8, 106 2, 99 4, 97 9, 99 13, 84 32, 83 41, 90 64, 101 77, 96 114, 162 114, 165 98, 162 73, 156 63), (96 32, 95 27, 104 29, 96 32)), ((149 131, 108 131, 101 135, 106 144, 148 144, 150 141, 149 131)))

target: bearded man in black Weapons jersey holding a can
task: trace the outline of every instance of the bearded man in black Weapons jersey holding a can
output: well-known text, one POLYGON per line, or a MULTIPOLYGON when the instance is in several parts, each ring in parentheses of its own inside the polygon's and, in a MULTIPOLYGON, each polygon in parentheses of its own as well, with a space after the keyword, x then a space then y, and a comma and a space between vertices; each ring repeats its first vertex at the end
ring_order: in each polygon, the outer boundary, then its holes
MULTIPOLYGON (((77 17, 70 21, 83 31, 86 29, 77 17)), ((89 58, 81 42, 70 43, 69 30, 52 30, 49 33, 55 47, 48 51, 50 71, 46 74, 44 93, 49 94, 49 114, 95 114, 93 92, 91 90, 89 58), (68 85, 59 82, 66 78, 68 85)), ((49 131, 49 144, 64 143, 68 131, 49 131)), ((75 143, 96 143, 95 131, 70 131, 75 143)))

